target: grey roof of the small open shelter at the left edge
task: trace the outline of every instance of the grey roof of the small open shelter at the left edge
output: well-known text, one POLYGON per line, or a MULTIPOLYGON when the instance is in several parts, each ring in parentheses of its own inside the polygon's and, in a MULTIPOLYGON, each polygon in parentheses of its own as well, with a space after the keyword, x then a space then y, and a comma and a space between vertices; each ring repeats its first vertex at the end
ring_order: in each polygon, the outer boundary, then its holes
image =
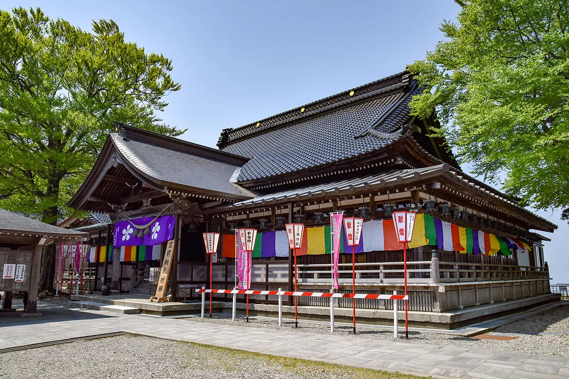
POLYGON ((0 232, 9 232, 33 236, 59 236, 81 238, 85 233, 60 228, 59 226, 43 223, 24 215, 0 209, 0 232))

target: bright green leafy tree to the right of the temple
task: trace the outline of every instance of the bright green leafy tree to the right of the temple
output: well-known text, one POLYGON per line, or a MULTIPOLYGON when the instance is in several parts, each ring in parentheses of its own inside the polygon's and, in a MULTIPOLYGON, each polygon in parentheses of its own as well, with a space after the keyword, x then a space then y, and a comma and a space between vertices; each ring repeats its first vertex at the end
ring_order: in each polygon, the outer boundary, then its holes
POLYGON ((567 0, 456 1, 446 39, 409 66, 461 163, 538 209, 569 206, 567 0))

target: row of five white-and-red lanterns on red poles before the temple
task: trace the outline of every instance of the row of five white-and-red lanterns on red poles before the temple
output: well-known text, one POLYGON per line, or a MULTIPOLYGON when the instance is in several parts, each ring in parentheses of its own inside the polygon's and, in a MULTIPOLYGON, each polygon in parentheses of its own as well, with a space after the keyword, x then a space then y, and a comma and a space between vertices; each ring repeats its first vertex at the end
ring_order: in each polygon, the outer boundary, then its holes
MULTIPOLYGON (((413 229, 415 225, 415 213, 409 211, 396 211, 393 212, 393 223, 395 226, 395 232, 397 234, 397 240, 403 243, 403 277, 405 278, 405 295, 407 295, 407 244, 411 241, 413 236, 413 229)), ((360 244, 362 228, 364 225, 364 219, 360 217, 346 217, 344 218, 344 230, 346 236, 346 242, 348 246, 352 247, 352 294, 356 294, 356 246, 360 244)), ((288 247, 292 249, 294 256, 294 291, 298 291, 298 281, 297 281, 297 252, 298 249, 302 247, 303 235, 304 235, 304 224, 302 223, 290 223, 285 225, 285 229, 288 237, 288 247)), ((257 229, 255 228, 241 228, 237 229, 237 233, 240 237, 241 249, 246 253, 246 267, 244 273, 246 273, 245 284, 246 289, 249 289, 249 259, 250 254, 255 246, 255 239, 257 238, 257 229)), ((206 232, 203 234, 204 244, 207 253, 210 255, 209 258, 209 288, 213 289, 212 282, 212 265, 213 253, 217 252, 217 245, 221 234, 219 232, 206 232)), ((237 270, 237 263, 235 264, 237 270)), ((237 272, 236 272, 237 275, 237 272)), ((356 333, 356 298, 352 297, 352 310, 353 310, 353 332, 356 333)), ((407 311, 408 303, 405 300, 405 336, 409 337, 409 328, 407 322, 407 311)), ((209 293, 209 317, 212 316, 212 293, 209 293)), ((246 295, 246 317, 247 322, 249 322, 249 295, 246 295)), ((298 296, 294 297, 294 322, 295 327, 298 328, 298 296)))

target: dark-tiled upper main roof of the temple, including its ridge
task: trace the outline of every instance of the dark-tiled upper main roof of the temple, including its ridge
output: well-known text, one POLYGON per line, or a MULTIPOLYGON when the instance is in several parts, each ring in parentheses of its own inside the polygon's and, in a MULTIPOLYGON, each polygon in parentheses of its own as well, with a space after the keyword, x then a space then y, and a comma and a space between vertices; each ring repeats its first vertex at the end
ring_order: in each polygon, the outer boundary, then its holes
POLYGON ((393 143, 419 93, 406 73, 361 86, 232 130, 223 151, 251 158, 237 181, 249 181, 348 159, 393 143), (301 111, 301 110, 304 111, 301 111))

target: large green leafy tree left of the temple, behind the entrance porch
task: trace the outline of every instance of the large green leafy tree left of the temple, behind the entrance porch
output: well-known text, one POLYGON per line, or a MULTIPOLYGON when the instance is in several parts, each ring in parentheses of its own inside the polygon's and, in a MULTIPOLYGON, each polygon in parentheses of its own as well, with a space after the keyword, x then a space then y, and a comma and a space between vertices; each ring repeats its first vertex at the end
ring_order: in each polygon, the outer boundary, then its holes
MULTIPOLYGON (((112 20, 85 32, 38 8, 0 10, 0 207, 55 224, 113 121, 167 135, 155 111, 180 85, 171 60, 125 41, 112 20)), ((52 289, 55 248, 42 256, 52 289)))

